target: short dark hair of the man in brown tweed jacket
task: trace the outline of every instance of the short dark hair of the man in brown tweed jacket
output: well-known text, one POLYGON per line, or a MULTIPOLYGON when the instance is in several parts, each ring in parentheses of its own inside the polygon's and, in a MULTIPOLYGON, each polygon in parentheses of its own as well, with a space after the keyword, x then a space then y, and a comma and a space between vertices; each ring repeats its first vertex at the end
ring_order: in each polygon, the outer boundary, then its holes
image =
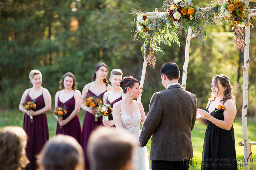
POLYGON ((179 79, 180 77, 180 70, 176 63, 168 62, 163 64, 162 68, 160 69, 161 75, 166 75, 169 80, 179 79))

